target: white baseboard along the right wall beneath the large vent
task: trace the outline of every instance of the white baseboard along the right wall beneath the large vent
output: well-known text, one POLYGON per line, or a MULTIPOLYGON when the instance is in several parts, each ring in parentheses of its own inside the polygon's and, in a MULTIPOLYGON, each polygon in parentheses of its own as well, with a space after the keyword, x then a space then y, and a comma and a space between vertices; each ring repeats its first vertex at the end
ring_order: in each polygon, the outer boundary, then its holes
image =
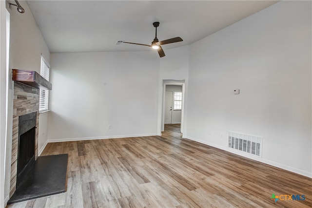
POLYGON ((224 151, 228 151, 228 152, 231 152, 231 153, 243 156, 243 157, 247 157, 249 159, 252 159, 252 160, 255 160, 255 161, 258 161, 258 162, 261 162, 261 163, 265 163, 267 165, 274 166, 276 168, 280 168, 280 169, 283 169, 283 170, 288 170, 288 171, 291 171, 291 172, 294 172, 294 173, 297 173, 297 174, 300 174, 300 175, 312 178, 312 172, 308 172, 308 171, 305 171, 305 170, 292 168, 290 166, 286 166, 286 165, 283 165, 283 164, 280 164, 280 163, 276 163, 276 162, 271 161, 271 160, 263 159, 263 158, 260 158, 260 157, 256 157, 256 156, 253 156, 253 155, 247 155, 244 152, 238 152, 238 151, 235 151, 235 150, 233 150, 231 148, 223 147, 223 146, 216 145, 216 144, 213 144, 213 143, 209 143, 209 142, 206 142, 206 141, 203 141, 203 140, 200 140, 200 139, 196 139, 196 138, 191 137, 191 136, 183 135, 183 138, 190 139, 190 140, 193 140, 193 141, 205 144, 205 145, 209 145, 209 146, 212 146, 212 147, 224 150, 224 151))

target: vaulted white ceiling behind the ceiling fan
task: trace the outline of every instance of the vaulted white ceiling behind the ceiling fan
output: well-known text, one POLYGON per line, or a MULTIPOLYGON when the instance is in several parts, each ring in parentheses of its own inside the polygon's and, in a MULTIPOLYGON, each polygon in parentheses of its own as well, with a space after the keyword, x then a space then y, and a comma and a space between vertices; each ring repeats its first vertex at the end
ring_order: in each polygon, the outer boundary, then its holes
POLYGON ((277 1, 270 0, 28 0, 51 53, 145 51, 154 21, 157 38, 184 41, 163 49, 189 45, 277 1))

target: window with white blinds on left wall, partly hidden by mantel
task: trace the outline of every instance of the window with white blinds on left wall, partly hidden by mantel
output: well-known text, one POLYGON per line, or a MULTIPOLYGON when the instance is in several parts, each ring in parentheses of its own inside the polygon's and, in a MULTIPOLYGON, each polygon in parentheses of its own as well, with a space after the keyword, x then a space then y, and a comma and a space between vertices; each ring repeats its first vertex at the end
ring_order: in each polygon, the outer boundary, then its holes
MULTIPOLYGON (((44 58, 41 56, 41 70, 40 75, 49 81, 50 67, 44 58)), ((40 90, 40 98, 39 98, 39 112, 48 111, 49 106, 49 91, 48 90, 40 90)))

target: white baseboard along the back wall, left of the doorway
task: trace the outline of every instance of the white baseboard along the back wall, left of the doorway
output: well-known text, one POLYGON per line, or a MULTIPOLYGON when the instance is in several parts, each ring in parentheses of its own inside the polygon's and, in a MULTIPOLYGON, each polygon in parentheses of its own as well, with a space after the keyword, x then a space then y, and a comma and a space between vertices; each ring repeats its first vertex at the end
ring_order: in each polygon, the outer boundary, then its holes
POLYGON ((127 137, 156 136, 156 135, 159 136, 158 133, 150 133, 150 134, 130 134, 130 135, 115 135, 115 136, 61 138, 61 139, 48 139, 47 143, 71 142, 71 141, 83 141, 83 140, 95 140, 95 139, 115 139, 115 138, 117 139, 117 138, 127 138, 127 137))

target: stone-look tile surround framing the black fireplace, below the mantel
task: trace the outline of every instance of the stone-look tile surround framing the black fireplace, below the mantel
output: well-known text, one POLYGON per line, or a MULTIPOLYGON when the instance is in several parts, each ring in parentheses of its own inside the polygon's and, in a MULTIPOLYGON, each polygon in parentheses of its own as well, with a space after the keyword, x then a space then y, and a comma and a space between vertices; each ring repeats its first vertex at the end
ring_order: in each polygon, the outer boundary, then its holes
POLYGON ((13 95, 13 135, 11 156, 10 197, 16 190, 17 159, 19 142, 19 116, 37 112, 35 135, 35 159, 38 158, 38 130, 39 130, 39 89, 14 81, 13 95))

